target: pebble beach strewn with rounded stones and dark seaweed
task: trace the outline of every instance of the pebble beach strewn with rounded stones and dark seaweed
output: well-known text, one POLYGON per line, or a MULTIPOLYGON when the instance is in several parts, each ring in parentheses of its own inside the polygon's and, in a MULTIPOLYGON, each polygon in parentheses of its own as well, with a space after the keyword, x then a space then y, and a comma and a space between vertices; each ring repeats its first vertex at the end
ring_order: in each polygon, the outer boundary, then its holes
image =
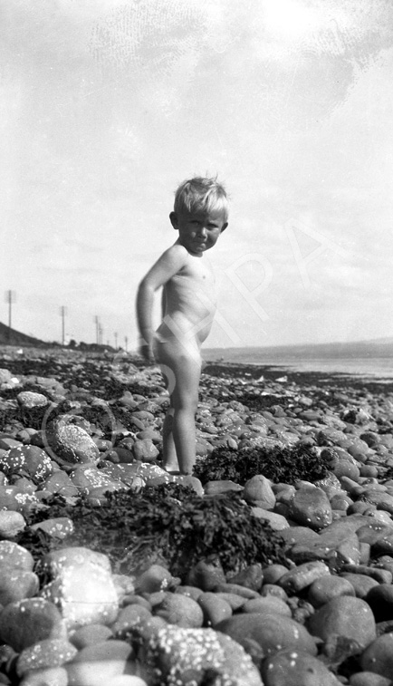
POLYGON ((137 356, 0 349, 0 683, 392 686, 393 382, 206 362, 192 477, 167 408, 137 356))

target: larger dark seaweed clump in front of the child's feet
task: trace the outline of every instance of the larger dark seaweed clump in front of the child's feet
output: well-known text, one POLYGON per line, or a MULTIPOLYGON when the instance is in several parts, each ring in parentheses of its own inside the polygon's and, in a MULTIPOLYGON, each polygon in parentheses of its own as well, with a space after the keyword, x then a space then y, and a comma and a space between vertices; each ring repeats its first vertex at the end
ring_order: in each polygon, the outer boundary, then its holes
MULTIPOLYGON (((184 577, 199 560, 211 556, 219 559, 225 572, 254 563, 287 564, 283 538, 267 522, 253 517, 237 494, 200 498, 191 488, 168 484, 106 497, 97 506, 87 498, 70 505, 55 496, 46 502, 46 510, 31 515, 28 524, 69 517, 74 533, 58 547, 105 550, 116 573, 129 574, 161 562, 173 575, 184 577)), ((22 533, 17 542, 39 559, 39 537, 22 533)), ((42 544, 46 553, 46 536, 42 544)))

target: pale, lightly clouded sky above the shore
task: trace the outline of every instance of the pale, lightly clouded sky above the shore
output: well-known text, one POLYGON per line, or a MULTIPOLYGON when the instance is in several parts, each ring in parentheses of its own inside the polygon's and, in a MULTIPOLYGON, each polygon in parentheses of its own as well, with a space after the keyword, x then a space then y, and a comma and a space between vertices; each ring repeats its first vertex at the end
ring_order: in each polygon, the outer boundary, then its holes
POLYGON ((0 321, 11 290, 18 331, 134 349, 174 192, 217 175, 207 347, 393 335, 391 0, 5 0, 0 67, 0 321))

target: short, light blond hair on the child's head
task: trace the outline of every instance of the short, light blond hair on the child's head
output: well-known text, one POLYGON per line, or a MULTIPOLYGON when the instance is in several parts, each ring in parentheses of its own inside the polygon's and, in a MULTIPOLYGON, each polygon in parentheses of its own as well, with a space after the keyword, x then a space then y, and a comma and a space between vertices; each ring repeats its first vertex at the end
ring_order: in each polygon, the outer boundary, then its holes
POLYGON ((225 188, 217 179, 195 177, 183 181, 175 194, 175 212, 186 209, 188 212, 214 210, 222 213, 224 221, 228 218, 228 198, 225 188))

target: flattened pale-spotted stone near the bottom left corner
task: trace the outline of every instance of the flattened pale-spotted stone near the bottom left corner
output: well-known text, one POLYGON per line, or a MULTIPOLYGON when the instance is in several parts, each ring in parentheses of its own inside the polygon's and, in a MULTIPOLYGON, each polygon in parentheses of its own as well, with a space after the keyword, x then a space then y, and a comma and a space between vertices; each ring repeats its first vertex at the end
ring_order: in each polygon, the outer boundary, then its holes
POLYGON ((70 662, 77 653, 75 646, 66 639, 49 638, 37 641, 20 653, 16 662, 16 673, 21 677, 35 669, 61 667, 65 662, 70 662))

